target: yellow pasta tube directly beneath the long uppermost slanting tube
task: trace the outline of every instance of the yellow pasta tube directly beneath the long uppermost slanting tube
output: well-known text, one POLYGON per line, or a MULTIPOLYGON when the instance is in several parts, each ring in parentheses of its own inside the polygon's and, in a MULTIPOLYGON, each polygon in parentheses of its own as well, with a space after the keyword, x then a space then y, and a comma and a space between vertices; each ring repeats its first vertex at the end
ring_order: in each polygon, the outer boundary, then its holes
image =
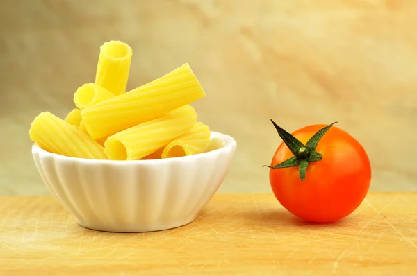
POLYGON ((142 159, 193 128, 197 114, 184 105, 167 114, 108 137, 104 148, 108 159, 142 159))

